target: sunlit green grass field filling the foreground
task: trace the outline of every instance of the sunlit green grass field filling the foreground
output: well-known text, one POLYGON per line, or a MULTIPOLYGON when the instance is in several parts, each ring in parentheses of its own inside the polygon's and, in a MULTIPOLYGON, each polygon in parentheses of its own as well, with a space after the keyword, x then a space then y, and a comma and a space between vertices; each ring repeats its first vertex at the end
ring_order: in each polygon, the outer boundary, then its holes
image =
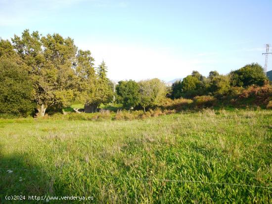
POLYGON ((0 203, 271 203, 271 187, 271 110, 0 120, 0 203))

